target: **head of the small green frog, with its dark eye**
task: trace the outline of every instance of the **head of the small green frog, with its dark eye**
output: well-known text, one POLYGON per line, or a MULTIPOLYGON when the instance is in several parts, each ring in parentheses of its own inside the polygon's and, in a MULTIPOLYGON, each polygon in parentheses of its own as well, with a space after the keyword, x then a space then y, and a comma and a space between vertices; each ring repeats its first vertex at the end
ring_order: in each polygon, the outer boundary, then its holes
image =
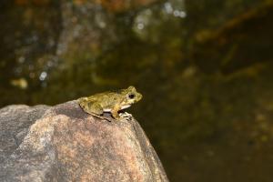
POLYGON ((136 88, 134 86, 129 86, 126 89, 122 90, 122 95, 125 96, 123 106, 131 106, 132 104, 138 102, 142 95, 136 92, 136 88))

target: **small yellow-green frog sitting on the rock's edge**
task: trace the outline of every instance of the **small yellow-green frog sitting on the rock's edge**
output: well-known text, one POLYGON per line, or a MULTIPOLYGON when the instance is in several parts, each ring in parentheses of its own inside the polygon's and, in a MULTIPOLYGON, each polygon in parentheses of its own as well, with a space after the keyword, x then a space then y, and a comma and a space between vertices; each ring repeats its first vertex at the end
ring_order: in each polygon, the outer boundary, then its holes
MULTIPOLYGON (((136 92, 134 86, 117 92, 104 92, 93 96, 79 98, 79 106, 93 116, 102 116, 104 112, 110 112, 112 116, 118 119, 118 111, 128 108, 138 102, 142 95, 136 92)), ((101 117, 102 118, 102 117, 101 117)))

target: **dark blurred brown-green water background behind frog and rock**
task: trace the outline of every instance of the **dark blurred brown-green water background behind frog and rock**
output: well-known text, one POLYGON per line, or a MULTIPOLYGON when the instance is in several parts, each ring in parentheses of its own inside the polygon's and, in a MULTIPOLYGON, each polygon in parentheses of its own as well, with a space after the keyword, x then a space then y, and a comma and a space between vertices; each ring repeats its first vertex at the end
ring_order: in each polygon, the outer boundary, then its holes
POLYGON ((273 180, 272 0, 1 0, 0 106, 136 86, 170 181, 273 180))

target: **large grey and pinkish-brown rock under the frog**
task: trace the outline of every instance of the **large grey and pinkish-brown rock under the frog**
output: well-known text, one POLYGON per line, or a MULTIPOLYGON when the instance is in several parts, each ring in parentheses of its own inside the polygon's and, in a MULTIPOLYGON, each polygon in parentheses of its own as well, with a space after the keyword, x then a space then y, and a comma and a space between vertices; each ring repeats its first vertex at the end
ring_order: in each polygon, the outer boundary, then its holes
POLYGON ((76 101, 0 109, 0 181, 168 181, 134 118, 108 122, 76 101))

